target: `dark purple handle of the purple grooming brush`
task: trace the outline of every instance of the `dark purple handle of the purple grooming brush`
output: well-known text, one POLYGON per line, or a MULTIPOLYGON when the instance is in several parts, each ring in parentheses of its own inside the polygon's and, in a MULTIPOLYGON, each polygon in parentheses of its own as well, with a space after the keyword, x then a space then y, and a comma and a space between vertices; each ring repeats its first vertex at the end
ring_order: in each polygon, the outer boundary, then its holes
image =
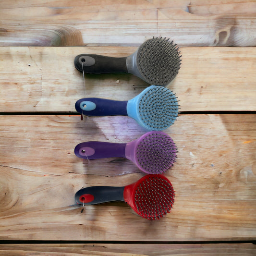
POLYGON ((78 144, 74 153, 79 158, 125 158, 126 143, 87 141, 78 144))

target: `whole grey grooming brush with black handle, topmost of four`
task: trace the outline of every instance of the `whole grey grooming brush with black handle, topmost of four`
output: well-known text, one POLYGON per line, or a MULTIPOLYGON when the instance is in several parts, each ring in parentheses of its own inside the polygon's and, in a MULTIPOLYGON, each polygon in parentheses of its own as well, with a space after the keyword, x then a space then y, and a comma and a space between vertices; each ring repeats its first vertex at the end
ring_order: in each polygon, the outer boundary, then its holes
POLYGON ((132 73, 150 85, 168 85, 178 74, 180 65, 179 48, 169 38, 162 37, 146 40, 128 57, 80 54, 74 59, 74 66, 80 72, 132 73))

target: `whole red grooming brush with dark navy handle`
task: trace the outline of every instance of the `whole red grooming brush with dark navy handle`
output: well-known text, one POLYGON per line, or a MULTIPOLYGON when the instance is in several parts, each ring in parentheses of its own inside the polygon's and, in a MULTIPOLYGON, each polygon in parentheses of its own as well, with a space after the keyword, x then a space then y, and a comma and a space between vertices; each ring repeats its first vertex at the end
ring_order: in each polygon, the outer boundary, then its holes
POLYGON ((76 192, 75 201, 80 205, 124 201, 143 218, 160 219, 171 212, 174 195, 171 182, 165 176, 149 174, 124 187, 82 188, 76 192))

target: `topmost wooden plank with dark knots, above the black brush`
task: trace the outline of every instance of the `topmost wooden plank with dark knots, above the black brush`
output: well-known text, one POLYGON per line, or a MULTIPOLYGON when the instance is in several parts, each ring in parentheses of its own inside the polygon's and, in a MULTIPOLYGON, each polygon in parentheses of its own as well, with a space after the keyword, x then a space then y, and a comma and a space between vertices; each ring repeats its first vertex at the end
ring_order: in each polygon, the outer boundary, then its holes
POLYGON ((256 46, 252 0, 0 2, 1 46, 133 46, 171 37, 180 46, 256 46))

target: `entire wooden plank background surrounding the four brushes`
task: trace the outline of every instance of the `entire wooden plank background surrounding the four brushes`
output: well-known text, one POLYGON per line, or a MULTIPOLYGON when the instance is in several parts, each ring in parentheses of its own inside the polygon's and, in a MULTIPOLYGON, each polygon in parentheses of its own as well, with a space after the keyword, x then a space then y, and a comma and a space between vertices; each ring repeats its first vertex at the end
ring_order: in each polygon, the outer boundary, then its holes
MULTIPOLYGON (((131 74, 85 75, 86 96, 128 100, 131 74)), ((255 255, 256 1, 0 1, 0 255, 255 255), (167 171, 173 210, 148 221, 125 203, 78 207, 83 186, 142 177, 121 158, 82 161, 86 140, 129 142, 128 117, 75 112, 81 53, 123 57, 170 37, 183 55, 168 85, 181 114, 165 130, 179 153, 167 171)))

